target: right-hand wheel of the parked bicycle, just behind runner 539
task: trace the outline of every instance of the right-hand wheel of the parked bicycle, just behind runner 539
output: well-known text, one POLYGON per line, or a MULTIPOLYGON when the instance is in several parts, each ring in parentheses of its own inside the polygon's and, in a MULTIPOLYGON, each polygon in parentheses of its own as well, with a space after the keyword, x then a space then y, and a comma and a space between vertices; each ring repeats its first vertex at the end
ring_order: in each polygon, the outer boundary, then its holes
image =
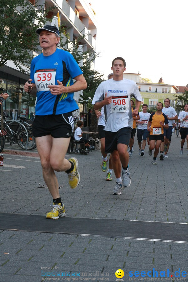
MULTIPOLYGON (((28 132, 27 150, 35 149, 36 148, 36 141, 35 141, 35 138, 33 136, 32 130, 28 128, 27 132, 28 132)), ((26 139, 27 139, 26 131, 25 130, 18 131, 17 139, 18 139, 18 145, 20 146, 20 148, 25 150, 26 149, 26 139)))

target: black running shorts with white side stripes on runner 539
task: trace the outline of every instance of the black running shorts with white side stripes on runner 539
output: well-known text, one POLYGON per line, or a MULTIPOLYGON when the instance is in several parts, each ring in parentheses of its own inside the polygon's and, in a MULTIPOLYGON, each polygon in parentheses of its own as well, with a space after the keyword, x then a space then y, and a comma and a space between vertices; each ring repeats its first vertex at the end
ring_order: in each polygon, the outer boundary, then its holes
POLYGON ((72 137, 74 121, 72 112, 60 115, 35 116, 33 121, 34 137, 51 135, 53 138, 72 137))

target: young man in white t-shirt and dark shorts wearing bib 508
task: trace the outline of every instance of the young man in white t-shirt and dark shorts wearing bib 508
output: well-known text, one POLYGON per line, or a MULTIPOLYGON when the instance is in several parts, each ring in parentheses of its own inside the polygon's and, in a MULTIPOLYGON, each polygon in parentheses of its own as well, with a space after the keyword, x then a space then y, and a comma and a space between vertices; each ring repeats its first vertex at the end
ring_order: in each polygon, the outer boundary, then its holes
POLYGON ((128 144, 133 128, 133 116, 138 114, 142 97, 136 83, 123 78, 126 63, 122 57, 112 61, 113 79, 103 81, 95 92, 94 109, 104 106, 105 114, 105 148, 106 153, 112 154, 112 165, 116 175, 116 185, 113 191, 115 195, 121 195, 122 188, 131 184, 128 172, 129 154, 128 144), (136 105, 131 111, 130 99, 135 97, 136 105), (120 158, 122 168, 117 162, 120 158), (122 178, 121 178, 122 169, 122 178), (123 186, 123 187, 122 187, 123 186))

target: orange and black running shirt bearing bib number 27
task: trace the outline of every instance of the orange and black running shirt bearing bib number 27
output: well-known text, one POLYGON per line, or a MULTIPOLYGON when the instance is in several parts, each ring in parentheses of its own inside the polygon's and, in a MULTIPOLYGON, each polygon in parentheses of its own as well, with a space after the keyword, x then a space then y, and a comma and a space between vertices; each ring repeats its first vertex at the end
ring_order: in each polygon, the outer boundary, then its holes
POLYGON ((149 118, 149 122, 151 122, 150 135, 158 135, 157 134, 158 132, 159 132, 159 135, 164 133, 163 126, 160 125, 160 121, 162 121, 163 124, 169 123, 167 116, 163 112, 161 113, 161 115, 157 115, 155 112, 151 114, 149 118))

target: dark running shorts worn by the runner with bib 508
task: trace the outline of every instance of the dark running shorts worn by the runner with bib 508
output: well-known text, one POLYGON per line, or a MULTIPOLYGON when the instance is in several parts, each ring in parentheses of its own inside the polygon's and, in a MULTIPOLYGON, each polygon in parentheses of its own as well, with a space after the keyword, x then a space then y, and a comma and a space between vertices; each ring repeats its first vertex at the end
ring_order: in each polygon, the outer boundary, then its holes
POLYGON ((124 127, 117 132, 105 131, 105 151, 112 153, 118 149, 118 144, 125 144, 128 146, 131 138, 131 127, 124 127))

